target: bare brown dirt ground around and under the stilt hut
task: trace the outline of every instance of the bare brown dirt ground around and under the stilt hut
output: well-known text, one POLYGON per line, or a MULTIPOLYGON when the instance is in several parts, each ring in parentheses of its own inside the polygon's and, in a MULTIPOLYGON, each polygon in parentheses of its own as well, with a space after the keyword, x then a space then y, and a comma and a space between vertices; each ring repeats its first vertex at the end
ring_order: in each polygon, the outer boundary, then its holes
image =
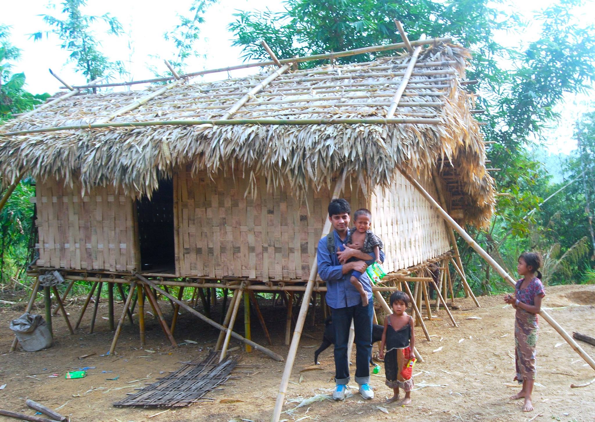
MULTIPOLYGON (((514 311, 510 306, 504 307, 502 296, 480 297, 479 300, 480 309, 475 308, 469 299, 457 301, 459 309, 453 311, 453 315, 459 328, 450 324, 444 311, 434 312, 437 318, 426 321, 433 336, 431 342, 425 340, 421 328, 416 328, 417 347, 424 362, 414 368, 417 390, 412 392, 414 401, 407 407, 383 405, 392 390, 384 386, 384 370, 381 370, 378 375, 372 376, 375 398, 371 401, 362 401, 356 384, 352 384, 350 391, 353 396, 345 402, 324 400, 296 408, 302 399, 330 394, 334 387, 332 349, 321 353, 320 366, 313 365, 314 350, 320 345, 324 329, 322 316, 317 315, 317 324, 314 326, 308 316, 284 405, 284 410, 289 412, 285 412, 281 419, 595 421, 595 383, 588 387, 570 388, 571 383, 593 379, 595 373, 545 321, 540 321, 537 345, 536 409, 528 414, 523 413, 522 401, 508 399, 519 389, 512 382, 514 311), (468 319, 470 317, 481 319, 468 319)), ((76 321, 81 302, 78 300, 68 306, 71 321, 76 321)), ((262 300, 261 307, 273 338, 274 346, 271 349, 286 356, 288 347, 283 345, 284 309, 272 308, 270 303, 265 302, 262 300)), ((548 308, 562 307, 548 312, 569 333, 580 331, 595 336, 595 286, 547 288, 543 305, 548 308)), ((4 307, 0 311, 0 386, 6 384, 0 390, 0 402, 4 409, 32 415, 33 411, 24 404, 30 398, 50 408, 60 408, 58 411, 69 415, 73 421, 270 420, 284 362, 275 362, 259 352, 245 353, 242 350, 233 353, 242 356, 243 365, 258 365, 258 368, 252 369, 252 375, 241 374, 242 378, 224 386, 223 391, 209 393, 208 396, 215 399, 212 403, 172 409, 152 418, 152 415, 164 409, 112 406, 112 402, 123 398, 127 392, 133 392, 134 388, 153 382, 167 371, 177 370, 181 366, 179 362, 206 356, 217 340, 217 332, 190 315, 184 313, 180 316, 176 339, 178 342, 193 340, 198 342, 196 345, 172 349, 156 320, 147 314, 147 344, 144 350, 139 347, 137 327, 131 327, 127 322, 118 343, 117 355, 100 356, 107 352, 112 340, 105 318, 107 305, 101 305, 94 334, 89 334, 92 312, 87 311, 81 328, 74 336, 68 334, 64 319, 58 315, 54 318, 54 346, 34 353, 17 350, 9 355, 7 352, 13 337, 8 322, 23 311, 22 306, 14 306, 4 307), (79 356, 89 353, 96 355, 79 359, 79 356), (83 367, 94 368, 88 370, 86 378, 64 379, 66 371, 83 367), (52 374, 58 376, 51 377, 52 374), (115 377, 118 379, 107 380, 115 377), (221 403, 224 399, 234 399, 236 402, 221 403)), ((119 303, 116 306, 117 316, 120 315, 121 306, 119 303)), ((162 302, 161 307, 169 319, 172 312, 170 305, 162 302)), ((35 312, 43 315, 43 309, 37 308, 35 312)), ((236 330, 243 333, 243 324, 236 324, 236 330)), ((252 318, 252 339, 266 344, 256 318, 252 318)), ((232 340, 230 347, 237 345, 232 340)), ((595 356, 594 346, 585 343, 581 343, 581 346, 591 356, 595 356)), ((353 353, 355 359, 355 347, 353 353)), ((0 416, 0 420, 9 420, 2 418, 0 416)))

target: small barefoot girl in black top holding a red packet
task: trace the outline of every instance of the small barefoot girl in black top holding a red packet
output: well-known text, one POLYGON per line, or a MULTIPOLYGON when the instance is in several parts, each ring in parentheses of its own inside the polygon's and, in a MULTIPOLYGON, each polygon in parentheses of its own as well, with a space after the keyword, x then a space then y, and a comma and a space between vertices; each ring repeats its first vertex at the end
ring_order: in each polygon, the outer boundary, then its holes
POLYGON ((388 315, 384 321, 384 332, 378 357, 384 359, 386 385, 392 387, 394 391, 394 396, 387 400, 387 404, 399 400, 399 388, 405 391, 405 398, 399 404, 411 403, 413 378, 411 377, 411 367, 408 367, 408 364, 409 359, 413 358, 415 333, 413 318, 405 312, 408 303, 409 296, 406 293, 395 291, 390 295, 393 314, 388 315), (384 346, 387 349, 386 353, 384 353, 384 346))

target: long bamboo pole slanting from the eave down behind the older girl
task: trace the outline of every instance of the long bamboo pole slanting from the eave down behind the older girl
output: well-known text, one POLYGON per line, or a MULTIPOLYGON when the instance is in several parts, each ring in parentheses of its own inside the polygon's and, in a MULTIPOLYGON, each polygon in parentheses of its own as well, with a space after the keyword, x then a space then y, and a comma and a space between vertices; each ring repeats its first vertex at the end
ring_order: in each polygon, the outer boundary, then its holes
MULTIPOLYGON (((469 234, 465 231, 464 228, 462 228, 446 211, 444 211, 442 207, 440 207, 436 200, 434 200, 434 198, 424 189, 424 187, 422 187, 422 185, 419 184, 417 180, 409 176, 406 172, 401 171, 401 173, 403 177, 405 177, 409 182, 411 182, 411 184, 414 185, 414 187, 419 191, 419 193, 421 193, 428 200, 428 202, 430 202, 430 204, 434 208, 436 208, 436 210, 440 213, 442 218, 444 218, 448 222, 448 224, 453 229, 455 229, 459 233, 459 235, 461 235, 462 238, 465 239, 469 246, 475 249, 475 251, 483 259, 485 259, 486 262, 490 264, 493 269, 496 270, 500 277, 508 281, 508 283, 511 286, 514 287, 516 285, 516 281, 508 274, 508 272, 506 272, 505 269, 503 269, 499 265, 499 263, 497 263, 493 259, 493 257, 490 256, 490 254, 488 254, 481 246, 479 246, 479 244, 475 240, 473 240, 471 236, 469 236, 469 234)), ((558 322, 556 322, 552 317, 550 317, 550 315, 547 314, 546 311, 542 310, 539 313, 539 315, 541 315, 541 317, 543 317, 543 319, 545 319, 548 324, 552 325, 554 330, 558 331, 558 334, 560 334, 560 336, 562 336, 562 338, 566 340, 566 343, 568 343, 572 347, 572 349, 574 349, 574 351, 577 352, 578 355, 580 355, 581 358, 583 358, 585 362, 587 362, 587 364, 589 364, 589 366, 593 368, 593 370, 595 370, 595 361, 593 360, 593 358, 591 358, 591 356, 589 356, 587 352, 585 352, 583 348, 579 346, 577 342, 575 342, 574 339, 572 339, 572 337, 569 336, 568 333, 566 333, 566 331, 562 327, 560 327, 558 322)))

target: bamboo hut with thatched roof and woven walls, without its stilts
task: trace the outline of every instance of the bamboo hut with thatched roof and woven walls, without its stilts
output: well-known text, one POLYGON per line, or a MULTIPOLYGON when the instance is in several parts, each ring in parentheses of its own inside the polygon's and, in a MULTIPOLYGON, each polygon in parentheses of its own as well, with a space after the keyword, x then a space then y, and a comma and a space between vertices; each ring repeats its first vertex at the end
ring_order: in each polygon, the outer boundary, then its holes
POLYGON ((397 169, 436 198, 437 175, 451 215, 466 224, 485 225, 493 211, 493 179, 464 85, 468 58, 461 46, 425 48, 394 113, 402 123, 391 124, 365 119, 386 117, 409 54, 281 68, 256 94, 250 89, 270 73, 80 92, 2 128, 2 181, 23 172, 37 181, 39 267, 301 281, 333 181, 345 171, 343 196, 372 210, 387 269, 406 269, 451 246, 440 216, 397 169), (230 116, 242 124, 118 127, 230 116), (75 128, 40 130, 64 126, 75 128))

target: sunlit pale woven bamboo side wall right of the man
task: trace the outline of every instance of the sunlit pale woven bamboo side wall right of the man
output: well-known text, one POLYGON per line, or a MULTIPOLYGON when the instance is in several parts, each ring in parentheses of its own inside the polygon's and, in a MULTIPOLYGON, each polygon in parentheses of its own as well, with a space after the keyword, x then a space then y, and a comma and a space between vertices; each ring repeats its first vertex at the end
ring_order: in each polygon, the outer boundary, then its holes
MULTIPOLYGON (((431 181, 419 183, 437 197, 431 181)), ((372 229, 384 243, 385 270, 408 268, 450 250, 444 220, 400 173, 390 189, 374 191, 370 210, 372 229)))

